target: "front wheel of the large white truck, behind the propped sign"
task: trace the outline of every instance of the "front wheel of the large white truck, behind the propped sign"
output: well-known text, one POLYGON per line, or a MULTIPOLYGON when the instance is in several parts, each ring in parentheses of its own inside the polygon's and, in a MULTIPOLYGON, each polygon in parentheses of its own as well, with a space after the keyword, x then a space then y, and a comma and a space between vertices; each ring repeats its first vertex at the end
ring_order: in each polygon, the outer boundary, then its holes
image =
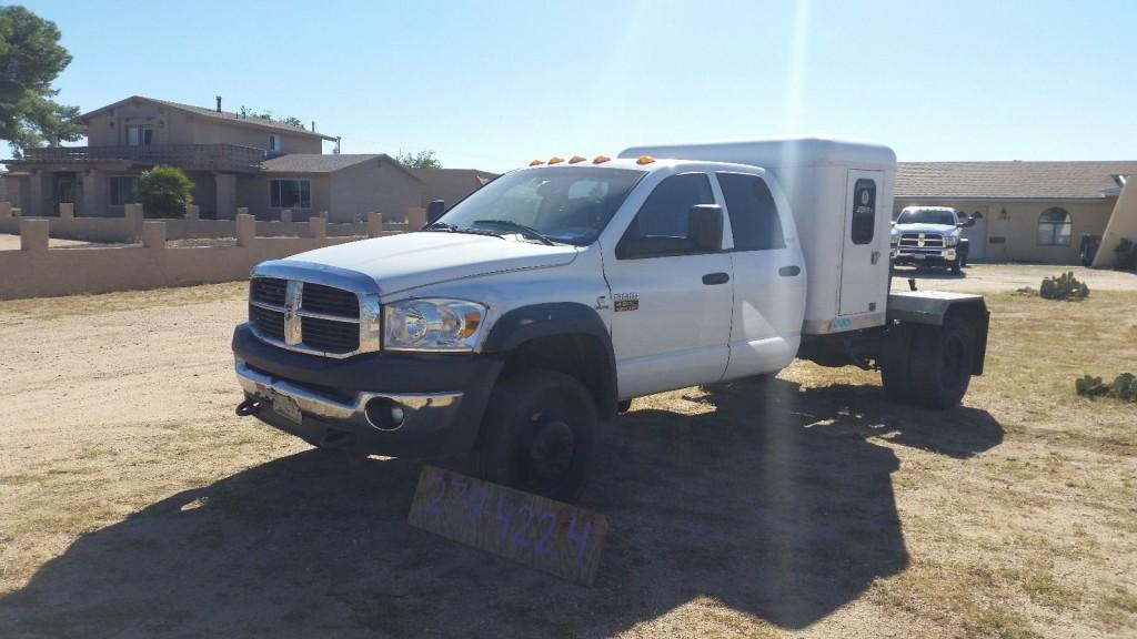
POLYGON ((498 383, 471 459, 482 479, 550 499, 580 495, 599 418, 588 390, 555 371, 498 383))

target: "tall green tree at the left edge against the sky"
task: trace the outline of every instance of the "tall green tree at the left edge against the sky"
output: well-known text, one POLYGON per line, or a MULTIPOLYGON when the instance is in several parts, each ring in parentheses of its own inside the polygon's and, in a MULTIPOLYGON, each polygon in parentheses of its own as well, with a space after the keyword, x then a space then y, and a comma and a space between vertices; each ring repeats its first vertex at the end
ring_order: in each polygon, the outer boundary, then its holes
POLYGON ((70 60, 53 22, 24 7, 0 7, 0 140, 16 157, 83 136, 78 108, 52 100, 59 91, 51 83, 70 60))

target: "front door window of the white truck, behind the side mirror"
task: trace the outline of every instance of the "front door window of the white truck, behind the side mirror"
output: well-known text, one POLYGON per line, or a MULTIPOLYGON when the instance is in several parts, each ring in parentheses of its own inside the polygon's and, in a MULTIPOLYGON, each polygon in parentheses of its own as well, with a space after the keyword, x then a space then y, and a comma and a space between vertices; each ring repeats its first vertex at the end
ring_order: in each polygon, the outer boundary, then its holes
POLYGON ((713 205, 711 180, 704 173, 672 175, 652 191, 616 244, 616 257, 636 259, 702 252, 688 235, 695 205, 713 205))

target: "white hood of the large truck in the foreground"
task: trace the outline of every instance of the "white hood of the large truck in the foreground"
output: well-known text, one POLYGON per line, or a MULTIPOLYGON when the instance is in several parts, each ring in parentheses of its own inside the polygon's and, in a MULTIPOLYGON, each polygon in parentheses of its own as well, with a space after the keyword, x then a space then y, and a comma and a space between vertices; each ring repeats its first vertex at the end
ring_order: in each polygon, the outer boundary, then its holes
POLYGON ((464 277, 570 264, 578 248, 545 246, 518 235, 416 232, 301 252, 281 264, 332 266, 375 280, 381 294, 464 277))

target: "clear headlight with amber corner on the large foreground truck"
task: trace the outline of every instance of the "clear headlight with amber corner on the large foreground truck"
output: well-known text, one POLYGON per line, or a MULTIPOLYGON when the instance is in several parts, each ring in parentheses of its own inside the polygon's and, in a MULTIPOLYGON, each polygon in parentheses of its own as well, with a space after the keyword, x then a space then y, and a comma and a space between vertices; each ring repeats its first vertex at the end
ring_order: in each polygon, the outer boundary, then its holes
POLYGON ((385 350, 473 350, 485 307, 460 299, 408 299, 383 307, 385 350))

